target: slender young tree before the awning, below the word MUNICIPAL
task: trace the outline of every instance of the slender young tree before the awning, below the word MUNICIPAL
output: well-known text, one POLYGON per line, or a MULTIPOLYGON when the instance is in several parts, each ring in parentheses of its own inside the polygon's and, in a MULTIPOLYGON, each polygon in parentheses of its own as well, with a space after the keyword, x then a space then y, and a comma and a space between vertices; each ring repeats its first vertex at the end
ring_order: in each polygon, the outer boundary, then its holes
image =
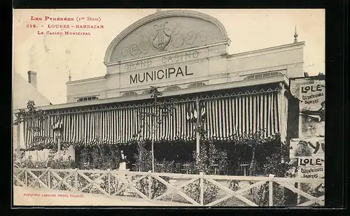
MULTIPOLYGON (((154 164, 155 164, 155 159, 154 159, 154 141, 155 141, 155 131, 158 130, 162 122, 169 117, 169 115, 173 115, 173 110, 175 109, 175 104, 172 99, 169 101, 158 101, 158 96, 162 95, 162 92, 158 91, 158 87, 153 87, 151 86, 150 92, 151 98, 153 100, 153 110, 151 112, 146 112, 143 110, 139 110, 139 117, 143 124, 141 125, 141 129, 136 135, 138 139, 141 138, 141 132, 146 129, 150 132, 151 134, 151 153, 152 153, 152 171, 155 171, 154 164), (151 122, 148 123, 146 122, 146 118, 151 117, 151 122)), ((141 154, 139 157, 142 157, 141 154)))

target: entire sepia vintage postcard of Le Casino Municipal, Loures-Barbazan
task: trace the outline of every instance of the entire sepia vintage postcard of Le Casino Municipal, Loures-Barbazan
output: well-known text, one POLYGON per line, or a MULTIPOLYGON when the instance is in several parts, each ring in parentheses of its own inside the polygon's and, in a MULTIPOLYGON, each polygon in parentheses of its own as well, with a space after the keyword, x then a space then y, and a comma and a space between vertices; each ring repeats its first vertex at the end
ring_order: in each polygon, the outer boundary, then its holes
POLYGON ((14 206, 325 205, 325 10, 13 13, 14 206))

